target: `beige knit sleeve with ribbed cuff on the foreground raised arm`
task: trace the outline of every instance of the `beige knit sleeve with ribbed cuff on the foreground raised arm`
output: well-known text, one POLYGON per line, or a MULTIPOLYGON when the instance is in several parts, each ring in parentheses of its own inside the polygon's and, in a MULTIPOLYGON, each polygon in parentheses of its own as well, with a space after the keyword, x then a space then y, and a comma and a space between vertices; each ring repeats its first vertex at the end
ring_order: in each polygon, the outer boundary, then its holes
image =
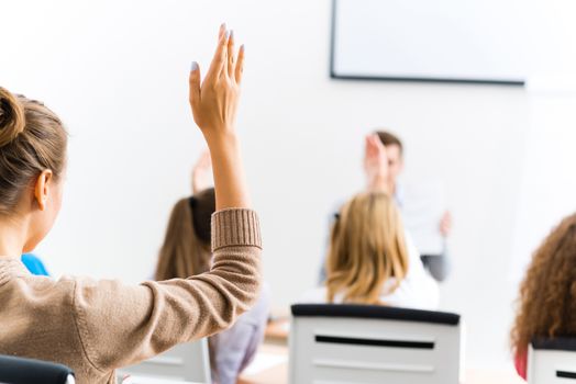
POLYGON ((225 210, 212 217, 207 273, 136 286, 77 280, 73 307, 89 363, 108 372, 230 327, 258 295, 261 249, 256 213, 225 210))

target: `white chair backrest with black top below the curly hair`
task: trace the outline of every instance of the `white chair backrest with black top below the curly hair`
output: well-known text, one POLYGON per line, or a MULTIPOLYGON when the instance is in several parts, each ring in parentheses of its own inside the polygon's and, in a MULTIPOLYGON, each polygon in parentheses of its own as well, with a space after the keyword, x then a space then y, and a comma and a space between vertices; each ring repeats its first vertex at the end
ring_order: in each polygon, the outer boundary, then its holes
POLYGON ((528 351, 530 384, 576 384, 576 338, 532 340, 528 351))

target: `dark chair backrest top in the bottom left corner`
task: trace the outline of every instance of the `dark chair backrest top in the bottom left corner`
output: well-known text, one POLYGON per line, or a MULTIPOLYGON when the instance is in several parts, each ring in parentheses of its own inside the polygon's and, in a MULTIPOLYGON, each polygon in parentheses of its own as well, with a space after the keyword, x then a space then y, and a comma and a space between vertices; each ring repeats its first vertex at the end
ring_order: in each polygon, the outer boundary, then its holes
POLYGON ((74 372, 47 361, 0 355, 0 383, 74 384, 74 372))

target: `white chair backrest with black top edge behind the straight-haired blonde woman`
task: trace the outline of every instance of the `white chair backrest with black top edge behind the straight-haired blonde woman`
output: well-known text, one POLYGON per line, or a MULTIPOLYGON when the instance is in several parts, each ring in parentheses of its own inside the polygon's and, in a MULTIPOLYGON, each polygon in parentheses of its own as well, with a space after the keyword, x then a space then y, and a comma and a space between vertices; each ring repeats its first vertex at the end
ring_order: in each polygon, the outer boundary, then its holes
POLYGON ((291 384, 457 384, 459 315, 375 305, 292 305, 291 384))

